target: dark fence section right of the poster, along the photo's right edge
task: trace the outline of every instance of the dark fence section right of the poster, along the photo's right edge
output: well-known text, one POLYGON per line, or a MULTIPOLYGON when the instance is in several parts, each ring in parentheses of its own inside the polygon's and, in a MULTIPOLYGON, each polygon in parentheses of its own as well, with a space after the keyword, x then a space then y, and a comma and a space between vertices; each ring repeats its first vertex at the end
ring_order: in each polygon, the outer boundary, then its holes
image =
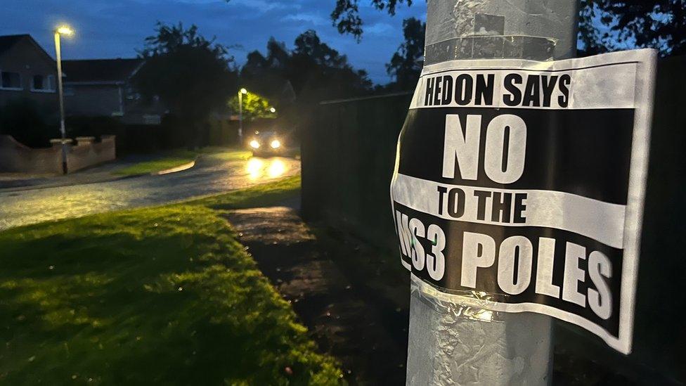
POLYGON ((633 359, 686 382, 686 56, 659 61, 633 359))

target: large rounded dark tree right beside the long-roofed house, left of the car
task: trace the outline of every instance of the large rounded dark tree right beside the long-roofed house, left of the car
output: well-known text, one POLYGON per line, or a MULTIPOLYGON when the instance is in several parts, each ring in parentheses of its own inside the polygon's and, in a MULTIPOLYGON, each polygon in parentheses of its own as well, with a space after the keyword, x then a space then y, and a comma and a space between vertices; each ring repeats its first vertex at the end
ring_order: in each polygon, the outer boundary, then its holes
POLYGON ((139 51, 145 65, 133 81, 147 98, 158 97, 188 127, 186 143, 196 147, 210 112, 225 108, 235 94, 238 74, 226 47, 198 34, 191 25, 157 24, 139 51))

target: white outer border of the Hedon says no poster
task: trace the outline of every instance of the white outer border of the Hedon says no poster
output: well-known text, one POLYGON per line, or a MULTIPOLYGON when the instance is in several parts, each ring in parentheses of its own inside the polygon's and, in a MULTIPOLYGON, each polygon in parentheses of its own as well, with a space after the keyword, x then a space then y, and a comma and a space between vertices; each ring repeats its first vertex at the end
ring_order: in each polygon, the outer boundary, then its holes
MULTIPOLYGON (((621 51, 605 53, 589 58, 576 58, 567 60, 557 60, 553 62, 536 62, 532 60, 505 59, 505 60, 453 60, 435 65, 427 65, 422 70, 422 77, 433 72, 444 70, 488 70, 494 66, 503 69, 528 70, 528 71, 564 71, 579 70, 596 66, 623 65, 627 62, 635 63, 635 95, 634 106, 634 129, 631 148, 631 160, 629 171, 628 198, 626 205, 626 216, 624 219, 623 230, 623 268, 621 272, 621 298, 619 309, 619 338, 610 335, 606 330, 597 326, 581 316, 571 314, 567 311, 537 303, 508 304, 477 300, 471 297, 448 294, 440 292, 431 285, 423 282, 420 278, 411 275, 413 281, 421 283, 425 292, 448 302, 471 305, 492 309, 493 311, 505 312, 536 312, 546 314, 557 319, 569 321, 577 326, 600 336, 607 345, 622 352, 631 352, 633 336, 633 315, 635 305, 635 292, 638 279, 638 257, 640 254, 640 237, 642 230, 643 210, 645 204, 645 190, 648 172, 648 155, 650 146, 650 126, 652 123, 654 79, 656 72, 657 51, 653 49, 641 49, 633 51, 621 51)), ((420 79, 420 82, 422 80, 420 79)), ((413 103, 410 108, 421 108, 416 105, 418 101, 418 87, 413 96, 413 103)), ((625 96, 626 97, 626 96, 625 96)), ((505 108, 505 107, 501 107, 505 108)), ((602 108, 600 105, 594 108, 602 108)), ((396 182, 398 176, 399 155, 396 155, 396 166, 391 181, 391 186, 396 182)), ((393 192, 391 190, 391 200, 393 192)), ((401 263, 406 268, 408 264, 401 258, 401 263)))

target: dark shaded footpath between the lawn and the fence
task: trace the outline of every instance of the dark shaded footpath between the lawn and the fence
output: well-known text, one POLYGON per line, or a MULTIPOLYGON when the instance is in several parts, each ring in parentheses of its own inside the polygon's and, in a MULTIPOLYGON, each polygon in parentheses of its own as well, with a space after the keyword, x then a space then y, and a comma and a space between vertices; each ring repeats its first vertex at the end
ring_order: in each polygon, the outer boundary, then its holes
POLYGON ((404 385, 409 276, 388 275, 376 250, 351 236, 315 234, 290 207, 230 212, 259 265, 311 331, 342 362, 350 385, 404 385))

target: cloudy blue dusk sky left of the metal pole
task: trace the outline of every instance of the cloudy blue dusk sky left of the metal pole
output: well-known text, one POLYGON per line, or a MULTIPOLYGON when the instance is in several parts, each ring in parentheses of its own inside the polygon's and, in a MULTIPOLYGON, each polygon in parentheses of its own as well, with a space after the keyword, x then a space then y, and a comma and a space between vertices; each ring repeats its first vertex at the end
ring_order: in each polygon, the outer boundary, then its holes
POLYGON ((365 22, 362 42, 341 35, 332 25, 334 0, 11 0, 3 4, 0 34, 30 33, 53 52, 51 30, 69 22, 77 31, 63 43, 65 58, 117 58, 136 56, 157 21, 198 25, 206 37, 216 36, 244 63, 247 52, 264 52, 270 37, 292 47, 295 37, 314 29, 323 41, 367 70, 375 82, 388 82, 385 63, 401 43, 403 18, 425 18, 426 4, 401 5, 396 16, 361 1, 365 22))

